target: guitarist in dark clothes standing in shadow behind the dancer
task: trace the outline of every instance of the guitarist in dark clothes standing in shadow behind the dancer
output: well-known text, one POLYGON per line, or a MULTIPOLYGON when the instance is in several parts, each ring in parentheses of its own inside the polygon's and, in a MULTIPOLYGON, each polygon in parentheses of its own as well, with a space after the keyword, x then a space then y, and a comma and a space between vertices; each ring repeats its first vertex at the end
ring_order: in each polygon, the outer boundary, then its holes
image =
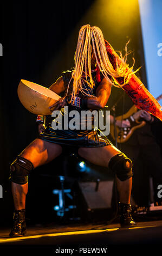
MULTIPOLYGON (((115 117, 125 114, 133 106, 127 94, 119 88, 112 88, 111 97, 107 105, 111 110, 110 122, 114 124, 114 112, 112 107, 115 104, 115 117)), ((141 111, 140 118, 146 124, 135 130, 132 136, 125 143, 118 143, 118 148, 131 158, 134 166, 132 195, 135 202, 140 206, 148 206, 148 184, 149 177, 153 178, 154 204, 161 205, 161 199, 157 197, 157 187, 162 184, 162 159, 160 147, 152 132, 155 125, 161 125, 160 121, 146 111, 141 111)), ((115 120, 118 127, 130 127, 129 120, 115 120)), ((112 143, 111 135, 108 137, 112 143)))

